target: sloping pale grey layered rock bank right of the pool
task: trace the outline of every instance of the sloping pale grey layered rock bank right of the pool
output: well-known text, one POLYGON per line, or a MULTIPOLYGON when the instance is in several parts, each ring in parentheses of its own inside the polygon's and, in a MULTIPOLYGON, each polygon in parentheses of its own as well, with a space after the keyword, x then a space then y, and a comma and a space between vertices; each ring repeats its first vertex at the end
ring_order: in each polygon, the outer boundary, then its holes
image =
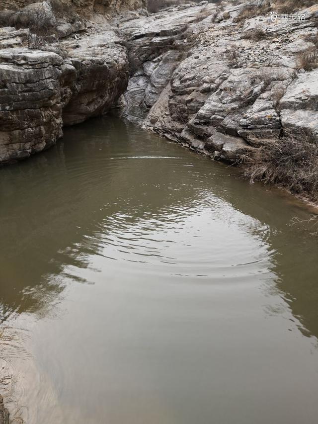
POLYGON ((123 23, 130 54, 138 58, 121 99, 124 115, 134 110, 138 87, 146 128, 230 161, 291 132, 316 140, 318 74, 311 67, 318 62, 318 5, 285 21, 273 21, 267 0, 249 5, 248 14, 244 1, 201 2, 123 23), (158 73, 152 105, 147 88, 161 58, 175 51, 175 69, 170 78, 158 73))

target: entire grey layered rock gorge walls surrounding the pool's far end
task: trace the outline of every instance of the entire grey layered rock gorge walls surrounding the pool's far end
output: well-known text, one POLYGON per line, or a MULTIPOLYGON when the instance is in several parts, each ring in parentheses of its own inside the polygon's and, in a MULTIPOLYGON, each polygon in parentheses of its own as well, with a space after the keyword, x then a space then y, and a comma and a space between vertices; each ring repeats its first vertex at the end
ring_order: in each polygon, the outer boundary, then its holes
POLYGON ((290 132, 316 139, 318 70, 308 58, 318 4, 296 20, 273 20, 268 0, 156 14, 144 1, 87 1, 89 18, 76 6, 72 14, 58 0, 1 11, 0 162, 40 152, 63 126, 115 105, 214 159, 237 161, 290 132), (45 36, 35 34, 39 19, 45 36))

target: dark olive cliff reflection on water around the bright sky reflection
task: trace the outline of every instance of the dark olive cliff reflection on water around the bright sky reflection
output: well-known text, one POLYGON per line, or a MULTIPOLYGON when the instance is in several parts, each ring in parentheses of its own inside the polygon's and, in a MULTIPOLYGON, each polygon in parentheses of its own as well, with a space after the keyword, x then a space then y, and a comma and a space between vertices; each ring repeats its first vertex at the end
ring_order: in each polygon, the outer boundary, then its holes
POLYGON ((89 266, 104 245, 101 225, 113 231, 111 217, 168 221, 200 207, 207 190, 256 220, 250 231, 268 245, 277 288, 318 337, 318 241, 303 232, 306 224, 290 226, 309 213, 276 189, 113 117, 68 128, 50 151, 1 169, 1 321, 54 303, 63 269, 89 266))

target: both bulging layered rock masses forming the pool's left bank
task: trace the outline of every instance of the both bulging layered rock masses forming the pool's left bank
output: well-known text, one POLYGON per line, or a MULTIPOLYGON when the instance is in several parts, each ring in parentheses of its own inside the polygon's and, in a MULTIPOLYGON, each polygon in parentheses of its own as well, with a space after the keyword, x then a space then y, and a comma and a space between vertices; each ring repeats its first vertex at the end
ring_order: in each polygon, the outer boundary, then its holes
MULTIPOLYGON (((4 41, 23 45, 19 31, 6 31, 4 41)), ((128 84, 122 44, 108 30, 43 50, 1 49, 0 162, 47 149, 62 137, 63 125, 107 112, 128 84)))

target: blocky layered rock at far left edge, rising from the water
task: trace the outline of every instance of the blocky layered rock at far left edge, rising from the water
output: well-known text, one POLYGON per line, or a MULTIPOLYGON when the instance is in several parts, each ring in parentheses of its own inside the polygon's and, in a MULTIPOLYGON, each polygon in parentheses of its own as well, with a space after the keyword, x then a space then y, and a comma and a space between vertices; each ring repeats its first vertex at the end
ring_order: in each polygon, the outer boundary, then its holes
POLYGON ((0 162, 26 158, 62 137, 63 74, 55 53, 0 50, 0 162))

